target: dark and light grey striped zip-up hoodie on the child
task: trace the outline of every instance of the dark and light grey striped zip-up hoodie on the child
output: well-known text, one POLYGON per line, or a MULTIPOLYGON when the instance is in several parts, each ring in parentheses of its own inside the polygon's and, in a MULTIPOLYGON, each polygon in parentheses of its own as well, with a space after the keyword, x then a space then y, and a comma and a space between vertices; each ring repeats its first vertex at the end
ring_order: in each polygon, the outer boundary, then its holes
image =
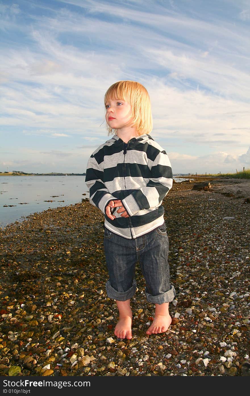
MULTIPOLYGON (((173 174, 165 150, 150 135, 124 143, 117 135, 98 147, 88 160, 86 185, 90 204, 101 209, 104 225, 124 238, 137 238, 164 223, 162 200, 172 187, 173 174), (122 201, 129 217, 105 214, 110 200, 122 201)), ((118 210, 119 208, 115 208, 118 210)))

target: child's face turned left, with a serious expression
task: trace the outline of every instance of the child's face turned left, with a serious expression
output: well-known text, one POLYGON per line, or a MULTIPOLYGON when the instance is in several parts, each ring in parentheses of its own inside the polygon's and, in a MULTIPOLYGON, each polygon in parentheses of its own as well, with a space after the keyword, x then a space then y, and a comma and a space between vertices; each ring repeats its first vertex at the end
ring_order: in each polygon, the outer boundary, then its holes
POLYGON ((112 129, 123 129, 133 124, 132 107, 122 99, 111 99, 106 105, 106 121, 112 129))

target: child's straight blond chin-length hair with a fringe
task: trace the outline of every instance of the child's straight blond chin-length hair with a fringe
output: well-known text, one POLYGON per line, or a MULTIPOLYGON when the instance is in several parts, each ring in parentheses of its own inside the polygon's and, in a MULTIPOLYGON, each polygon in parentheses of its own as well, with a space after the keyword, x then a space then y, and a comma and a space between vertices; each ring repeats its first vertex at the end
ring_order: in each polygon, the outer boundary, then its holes
MULTIPOLYGON (((104 104, 110 100, 121 99, 130 103, 132 107, 131 118, 133 126, 137 128, 138 135, 150 133, 153 127, 150 98, 147 89, 136 81, 118 81, 111 85, 104 96, 104 104)), ((110 133, 117 134, 117 129, 112 129, 107 124, 110 133)))

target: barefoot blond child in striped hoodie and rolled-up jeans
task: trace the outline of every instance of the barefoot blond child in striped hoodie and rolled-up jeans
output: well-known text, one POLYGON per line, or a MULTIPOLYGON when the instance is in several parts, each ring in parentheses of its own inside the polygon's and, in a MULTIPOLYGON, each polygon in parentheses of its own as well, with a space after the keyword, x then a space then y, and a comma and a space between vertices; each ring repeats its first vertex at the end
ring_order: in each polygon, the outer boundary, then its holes
POLYGON ((130 299, 135 294, 135 263, 146 282, 147 301, 155 315, 147 334, 167 331, 168 305, 175 297, 169 284, 168 237, 162 200, 173 174, 164 149, 150 135, 152 115, 144 86, 118 81, 105 93, 106 122, 113 137, 88 160, 86 185, 90 203, 104 213, 104 250, 109 280, 107 296, 115 299, 119 320, 115 335, 132 338, 130 299))

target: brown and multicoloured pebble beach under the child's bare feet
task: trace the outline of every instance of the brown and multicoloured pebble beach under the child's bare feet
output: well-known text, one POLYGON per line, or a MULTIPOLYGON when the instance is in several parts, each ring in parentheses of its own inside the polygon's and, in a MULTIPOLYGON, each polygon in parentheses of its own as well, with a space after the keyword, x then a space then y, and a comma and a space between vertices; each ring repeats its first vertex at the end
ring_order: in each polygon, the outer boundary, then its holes
POLYGON ((227 193, 218 188, 222 183, 187 178, 164 198, 176 296, 171 326, 158 335, 146 334, 154 305, 138 266, 133 338, 115 337, 118 310, 105 291, 104 217, 87 198, 0 229, 0 375, 244 375, 250 191, 227 193), (211 188, 193 190, 201 181, 211 188))

